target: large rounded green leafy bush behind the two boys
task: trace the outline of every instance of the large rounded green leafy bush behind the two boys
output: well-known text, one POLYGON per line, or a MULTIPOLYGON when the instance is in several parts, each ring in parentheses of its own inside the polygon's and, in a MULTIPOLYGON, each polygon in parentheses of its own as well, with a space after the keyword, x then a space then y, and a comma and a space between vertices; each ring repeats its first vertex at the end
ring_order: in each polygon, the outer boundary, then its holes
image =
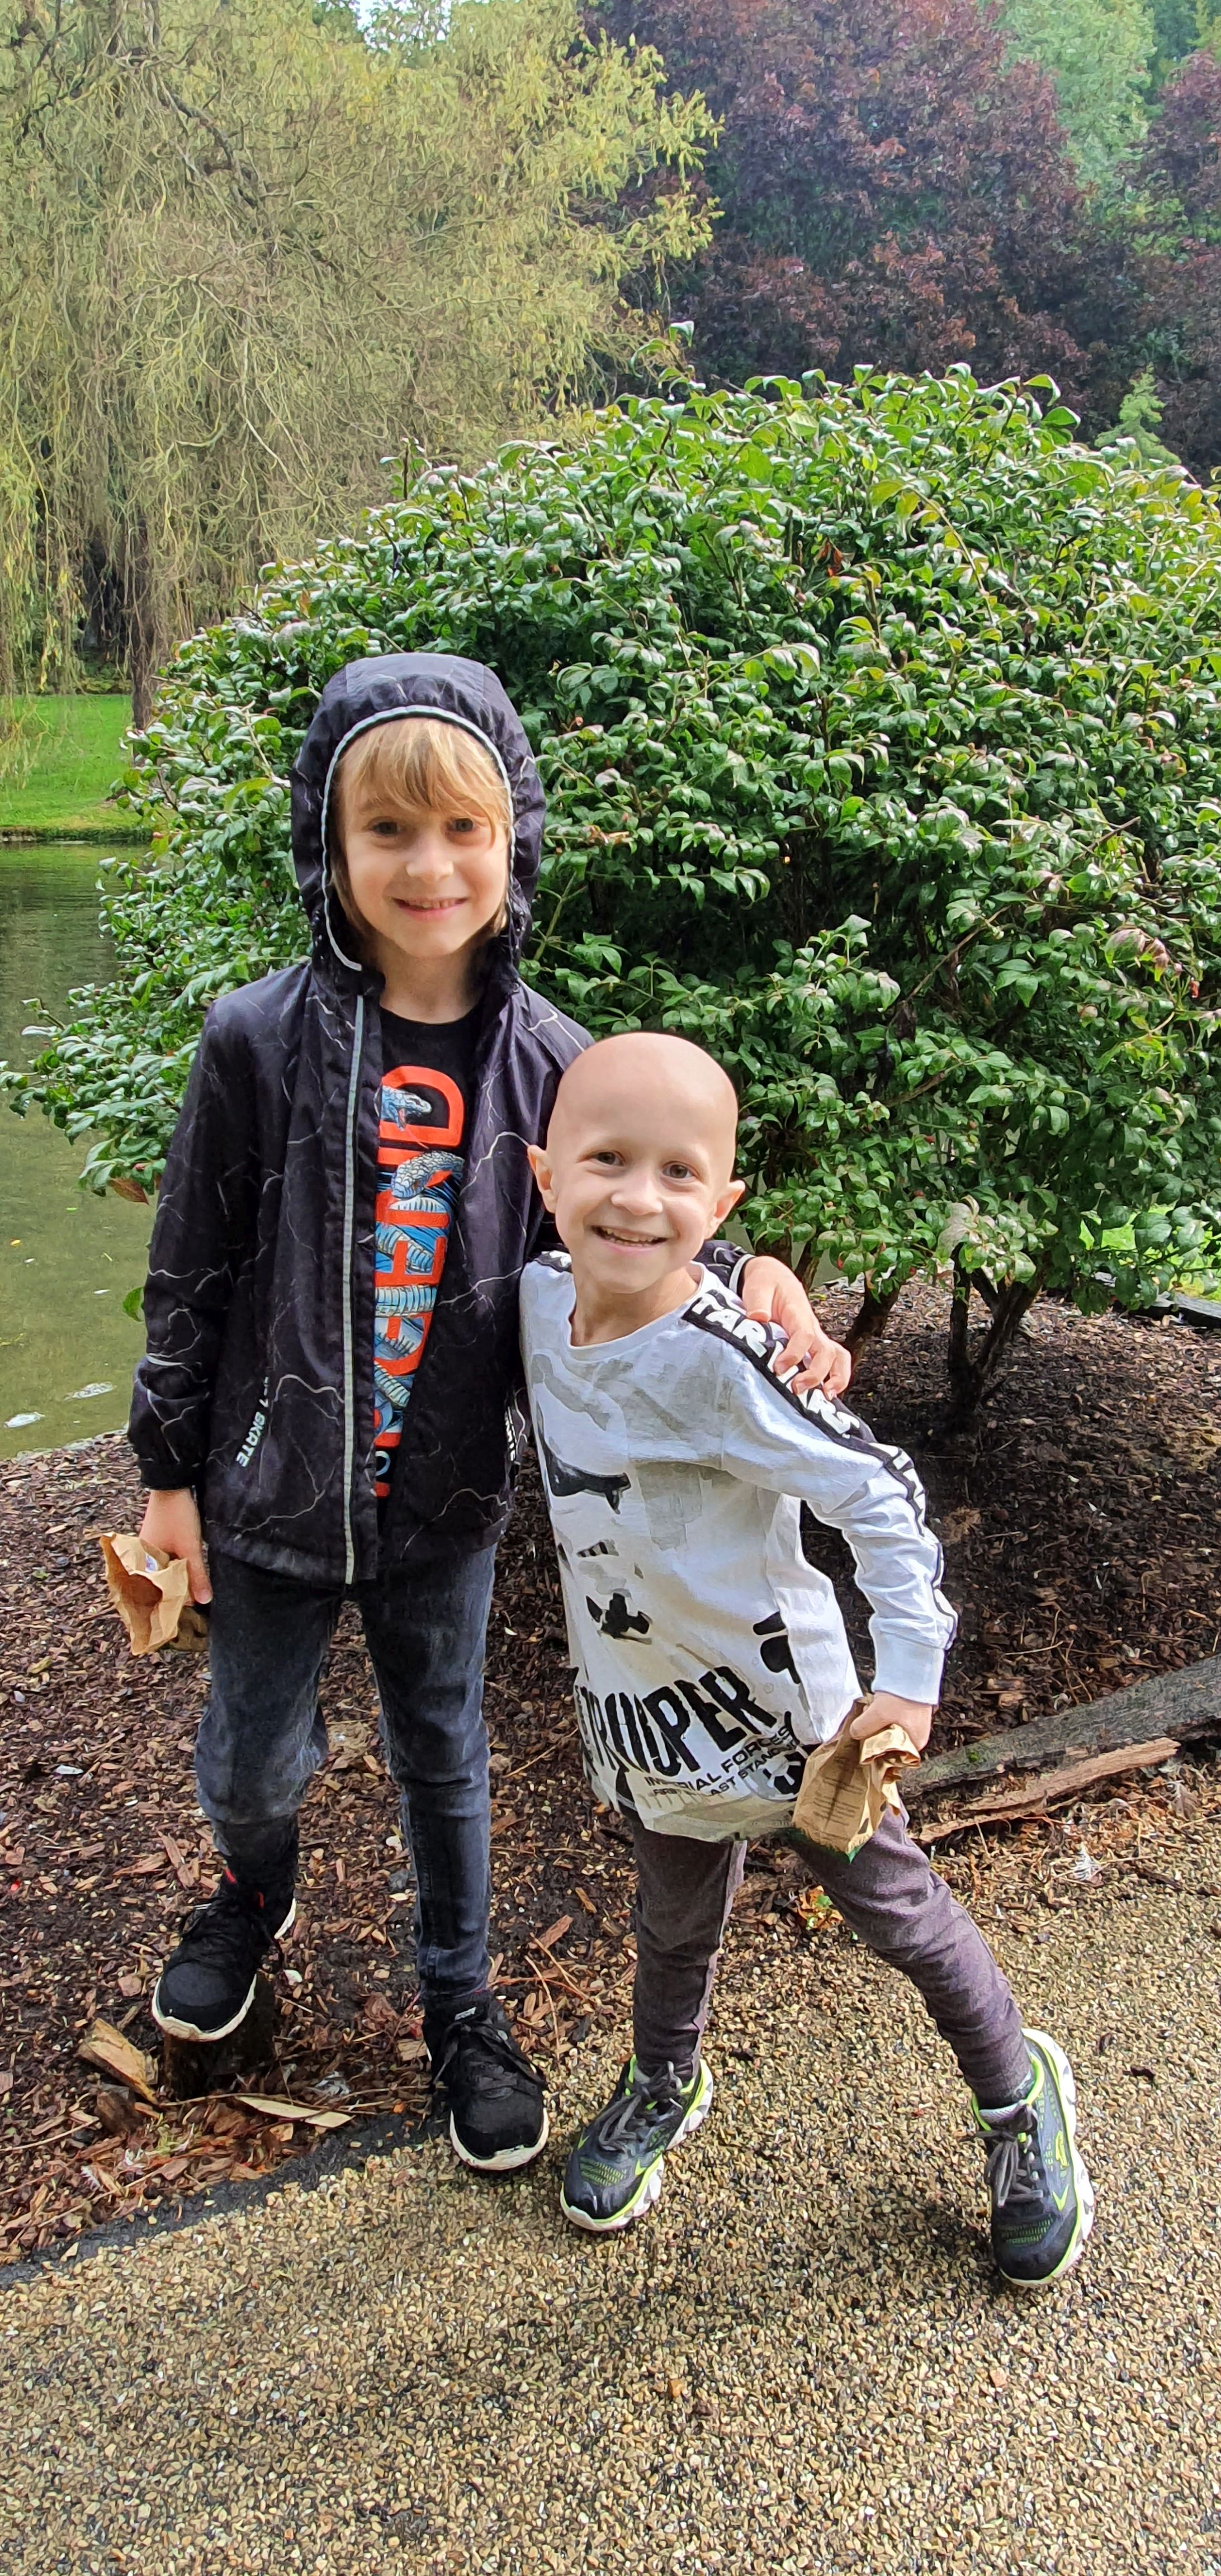
POLYGON ((533 979, 724 1059, 755 1242, 863 1273, 866 1324, 953 1262, 961 1401, 1041 1285, 1141 1306, 1203 1275, 1218 520, 1072 430, 963 371, 683 392, 433 471, 278 567, 165 680, 129 773, 155 860, 106 896, 121 976, 18 1097, 98 1139, 98 1185, 155 1182, 206 1002, 301 953, 286 773, 317 690, 453 649, 546 778, 533 979))

